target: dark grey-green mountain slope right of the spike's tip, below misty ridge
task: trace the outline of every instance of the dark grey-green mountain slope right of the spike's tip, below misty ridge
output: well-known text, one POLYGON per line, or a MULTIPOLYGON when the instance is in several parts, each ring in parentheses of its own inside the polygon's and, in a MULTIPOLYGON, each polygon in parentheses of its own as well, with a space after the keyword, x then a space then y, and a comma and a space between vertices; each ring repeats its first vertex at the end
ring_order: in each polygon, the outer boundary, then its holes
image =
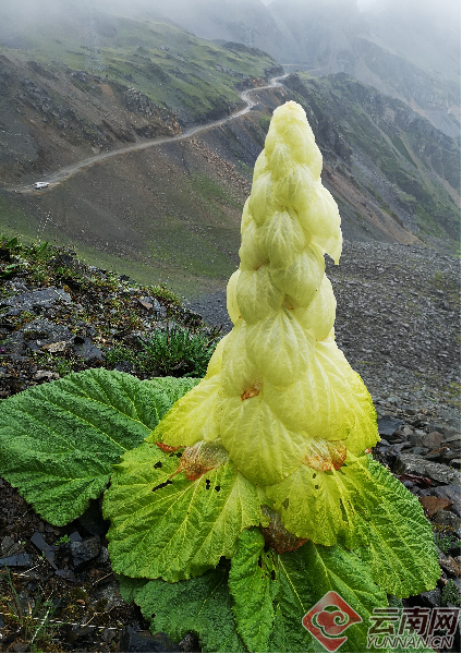
POLYGON ((460 140, 344 73, 303 82, 293 75, 285 84, 304 105, 325 161, 345 187, 358 185, 425 240, 460 239, 460 140))

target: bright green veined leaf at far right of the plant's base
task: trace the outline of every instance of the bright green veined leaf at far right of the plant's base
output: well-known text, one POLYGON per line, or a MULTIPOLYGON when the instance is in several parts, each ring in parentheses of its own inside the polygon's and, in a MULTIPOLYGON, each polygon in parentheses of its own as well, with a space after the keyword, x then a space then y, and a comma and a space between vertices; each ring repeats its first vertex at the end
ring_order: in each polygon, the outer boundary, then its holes
MULTIPOLYGON (((431 525, 414 497, 382 465, 369 461, 380 504, 367 516, 368 545, 356 554, 376 583, 397 597, 433 590, 441 576, 431 525)), ((361 522, 357 525, 361 529, 361 522)))

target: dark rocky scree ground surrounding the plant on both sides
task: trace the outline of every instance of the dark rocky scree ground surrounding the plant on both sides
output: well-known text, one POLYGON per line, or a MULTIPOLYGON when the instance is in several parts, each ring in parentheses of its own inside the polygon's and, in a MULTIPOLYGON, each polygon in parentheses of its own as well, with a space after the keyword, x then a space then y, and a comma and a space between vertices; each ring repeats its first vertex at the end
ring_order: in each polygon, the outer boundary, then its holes
MULTIPOLYGON (((223 293, 181 304, 165 288, 138 287, 46 243, 3 246, 0 257, 2 398, 95 366, 156 376, 111 353, 135 353, 141 336, 168 322, 216 335, 197 312, 209 325, 227 316, 223 293)), ((377 409, 375 456, 421 498, 435 531, 441 579, 435 591, 406 601, 415 606, 460 604, 459 268, 427 247, 380 243, 346 242, 340 266, 328 263, 337 341, 377 409)), ((139 614, 120 597, 98 501, 56 529, 2 480, 0 493, 0 567, 8 562, 22 606, 38 602, 38 593, 51 595, 53 619, 62 621, 44 634, 42 651, 199 651, 192 635, 175 645, 143 632, 139 614)), ((0 597, 11 595, 1 584, 0 597)), ((27 633, 5 600, 0 606, 0 651, 19 651, 27 633)))

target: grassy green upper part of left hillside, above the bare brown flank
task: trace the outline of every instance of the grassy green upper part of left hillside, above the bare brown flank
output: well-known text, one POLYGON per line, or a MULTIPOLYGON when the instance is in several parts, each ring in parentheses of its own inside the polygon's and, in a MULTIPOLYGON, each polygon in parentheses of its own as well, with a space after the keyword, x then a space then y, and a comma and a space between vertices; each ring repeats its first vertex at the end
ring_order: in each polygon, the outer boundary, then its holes
MULTIPOLYGON (((236 87, 252 85, 277 65, 265 52, 221 47, 165 22, 88 11, 85 3, 66 7, 65 13, 50 13, 45 4, 24 25, 2 16, 0 8, 0 55, 23 63, 33 59, 49 74, 85 71, 118 96, 135 87, 156 106, 177 112, 183 125, 227 113, 240 101, 236 87)), ((86 93, 94 86, 83 76, 73 82, 86 93)), ((101 89, 93 90, 97 99, 101 89)))

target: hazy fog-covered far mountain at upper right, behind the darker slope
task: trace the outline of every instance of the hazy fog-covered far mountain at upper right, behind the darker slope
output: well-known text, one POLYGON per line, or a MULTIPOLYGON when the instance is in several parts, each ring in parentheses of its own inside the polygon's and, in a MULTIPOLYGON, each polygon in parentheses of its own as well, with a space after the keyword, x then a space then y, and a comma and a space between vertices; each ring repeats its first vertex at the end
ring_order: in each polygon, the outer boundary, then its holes
POLYGON ((263 49, 289 72, 345 72, 460 134, 460 27, 441 3, 377 0, 360 12, 356 0, 134 0, 123 11, 153 7, 197 36, 263 49))

